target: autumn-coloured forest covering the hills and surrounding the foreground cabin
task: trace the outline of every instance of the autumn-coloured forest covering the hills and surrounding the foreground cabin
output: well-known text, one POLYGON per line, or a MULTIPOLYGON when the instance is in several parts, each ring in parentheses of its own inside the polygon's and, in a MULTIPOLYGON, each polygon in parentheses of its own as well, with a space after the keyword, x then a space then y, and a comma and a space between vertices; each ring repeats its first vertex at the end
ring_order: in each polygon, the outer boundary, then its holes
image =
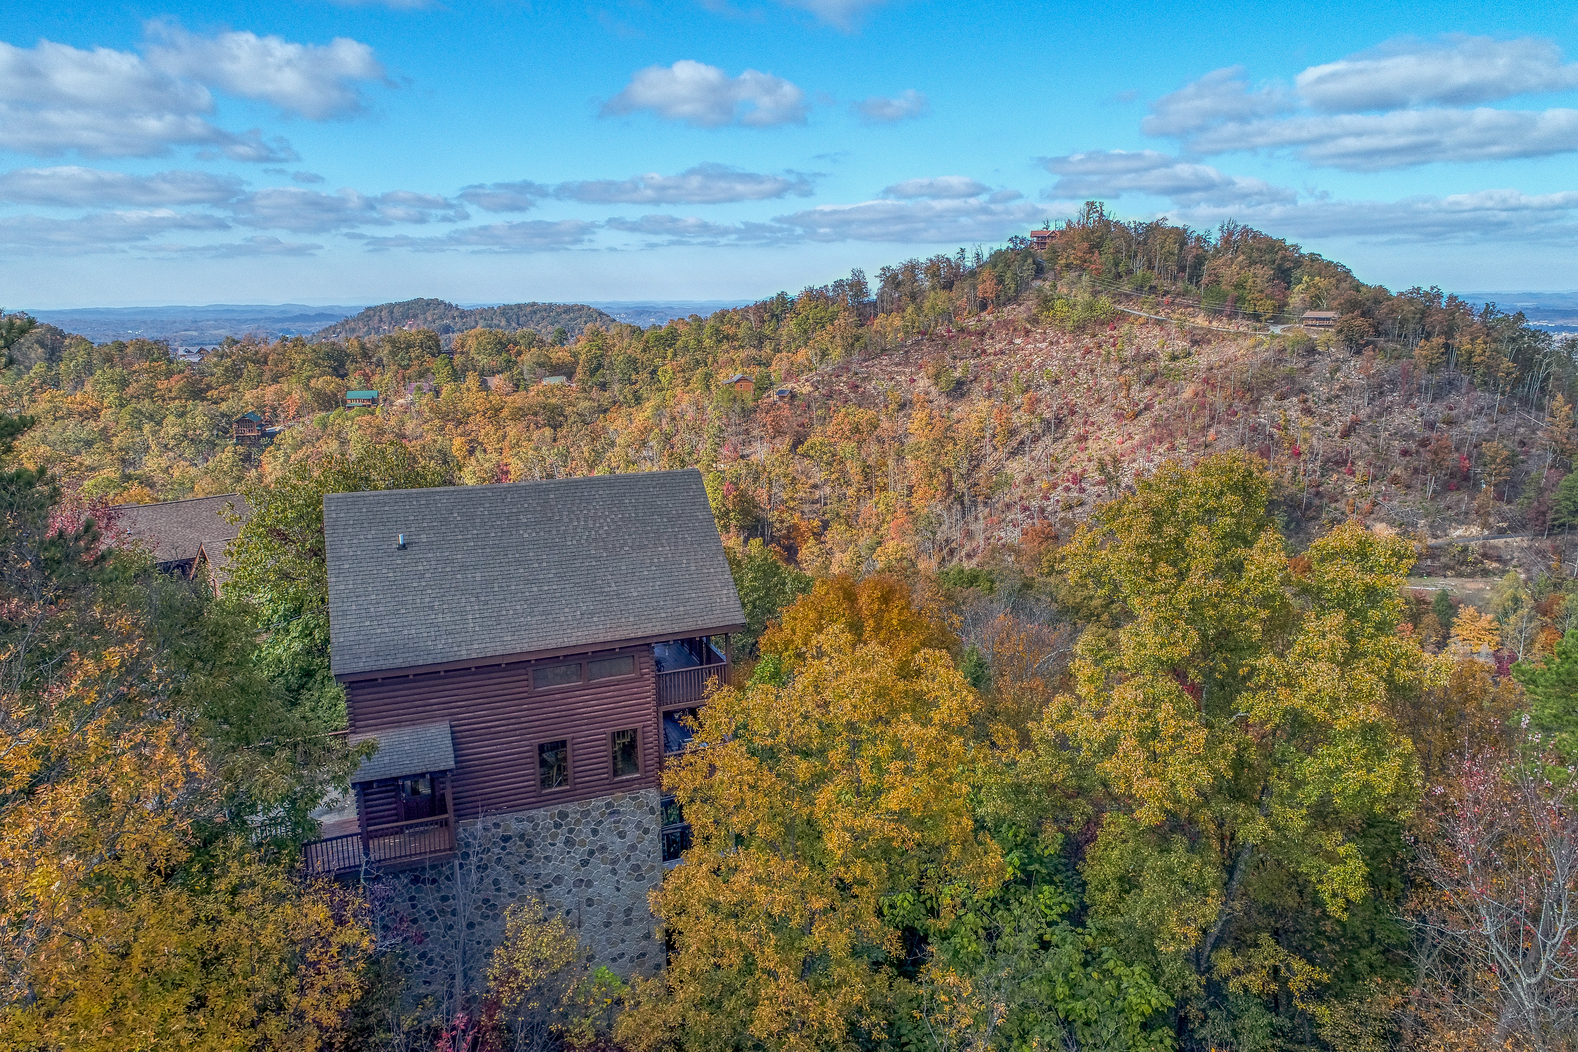
MULTIPOLYGON (((54 825, 0 841, 3 931, 49 916, 6 935, 0 1036, 191 1044, 259 940, 248 1005, 312 1047, 1573 1047, 1578 341, 1097 207, 1043 251, 563 345, 368 325, 200 363, 6 330, 0 804, 54 825), (245 412, 271 445, 232 442, 245 412), (402 1014, 421 948, 281 893, 350 762, 322 494, 675 467, 750 625, 664 774, 694 836, 667 968, 578 972, 527 916, 486 989, 402 1014), (101 552, 109 505, 237 491, 219 598, 101 552), (109 948, 73 956, 90 921, 109 948), (197 992, 131 1020, 139 983, 197 992)), ((241 1014, 202 1047, 275 1047, 241 1014)))

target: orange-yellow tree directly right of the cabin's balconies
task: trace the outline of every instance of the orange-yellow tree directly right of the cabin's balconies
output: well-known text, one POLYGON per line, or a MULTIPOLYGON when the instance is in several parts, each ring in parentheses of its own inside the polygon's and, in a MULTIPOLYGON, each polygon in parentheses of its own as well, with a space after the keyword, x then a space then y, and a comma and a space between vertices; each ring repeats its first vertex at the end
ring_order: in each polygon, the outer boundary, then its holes
POLYGON ((977 699, 947 642, 898 582, 817 582, 762 637, 756 681, 709 699, 701 748, 664 774, 694 837, 653 894, 669 964, 633 990, 620 1044, 882 1039, 904 984, 887 904, 945 910, 1002 879, 967 803, 977 699))

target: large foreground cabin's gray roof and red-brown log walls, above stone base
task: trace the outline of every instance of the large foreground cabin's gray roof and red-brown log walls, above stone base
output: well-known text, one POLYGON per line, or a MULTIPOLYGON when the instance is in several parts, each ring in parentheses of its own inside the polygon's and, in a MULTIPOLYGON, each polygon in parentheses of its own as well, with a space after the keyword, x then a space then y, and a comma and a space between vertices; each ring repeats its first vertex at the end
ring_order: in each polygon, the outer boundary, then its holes
POLYGON ((314 872, 442 860, 483 815, 656 800, 745 625, 696 470, 330 494, 323 527, 331 670, 379 748, 314 872))

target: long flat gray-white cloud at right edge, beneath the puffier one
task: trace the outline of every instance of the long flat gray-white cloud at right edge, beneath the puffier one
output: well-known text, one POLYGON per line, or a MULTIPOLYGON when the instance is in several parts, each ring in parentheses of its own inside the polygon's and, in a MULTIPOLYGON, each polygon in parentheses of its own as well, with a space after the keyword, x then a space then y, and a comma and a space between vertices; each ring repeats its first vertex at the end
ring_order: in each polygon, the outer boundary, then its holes
POLYGON ((1231 123, 1187 140, 1195 153, 1292 150, 1351 172, 1433 161, 1505 161, 1578 150, 1578 110, 1404 109, 1231 123))

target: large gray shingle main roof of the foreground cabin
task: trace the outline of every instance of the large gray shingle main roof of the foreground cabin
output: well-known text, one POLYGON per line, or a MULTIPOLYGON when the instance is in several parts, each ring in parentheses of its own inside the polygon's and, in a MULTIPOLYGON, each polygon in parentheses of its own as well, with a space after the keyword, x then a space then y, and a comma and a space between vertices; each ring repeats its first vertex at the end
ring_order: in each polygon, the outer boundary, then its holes
POLYGON ((323 527, 335 675, 745 625, 694 468, 328 494, 323 527))

